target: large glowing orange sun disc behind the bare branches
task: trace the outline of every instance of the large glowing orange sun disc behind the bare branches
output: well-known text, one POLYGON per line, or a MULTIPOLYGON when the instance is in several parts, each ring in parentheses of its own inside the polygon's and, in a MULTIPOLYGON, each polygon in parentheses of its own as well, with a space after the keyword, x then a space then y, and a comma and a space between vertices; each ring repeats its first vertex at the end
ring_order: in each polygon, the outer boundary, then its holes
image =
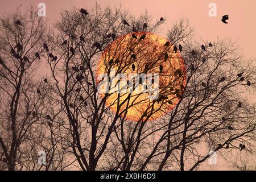
POLYGON ((130 32, 105 48, 97 64, 101 97, 113 113, 148 121, 170 112, 184 92, 183 57, 168 40, 152 32, 130 32))

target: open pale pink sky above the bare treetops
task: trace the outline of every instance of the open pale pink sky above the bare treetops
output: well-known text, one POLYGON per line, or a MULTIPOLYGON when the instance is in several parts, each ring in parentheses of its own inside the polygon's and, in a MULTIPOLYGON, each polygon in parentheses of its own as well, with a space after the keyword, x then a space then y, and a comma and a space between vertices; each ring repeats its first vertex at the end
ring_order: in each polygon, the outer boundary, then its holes
POLYGON ((171 27, 172 22, 179 18, 189 18, 192 26, 195 28, 197 38, 214 40, 217 38, 232 38, 240 44, 246 58, 256 57, 254 44, 256 42, 256 7, 255 0, 1 0, 0 13, 10 13, 19 5, 25 7, 30 3, 37 8, 38 3, 46 3, 47 19, 51 23, 59 18, 61 11, 76 7, 87 7, 96 4, 102 6, 119 6, 128 9, 135 15, 142 14, 145 10, 148 11, 155 19, 160 16, 167 18, 166 27, 163 30, 165 33, 168 27, 171 27), (216 3, 217 17, 210 18, 208 15, 209 3, 216 3), (221 22, 221 16, 229 15, 229 24, 221 22))

